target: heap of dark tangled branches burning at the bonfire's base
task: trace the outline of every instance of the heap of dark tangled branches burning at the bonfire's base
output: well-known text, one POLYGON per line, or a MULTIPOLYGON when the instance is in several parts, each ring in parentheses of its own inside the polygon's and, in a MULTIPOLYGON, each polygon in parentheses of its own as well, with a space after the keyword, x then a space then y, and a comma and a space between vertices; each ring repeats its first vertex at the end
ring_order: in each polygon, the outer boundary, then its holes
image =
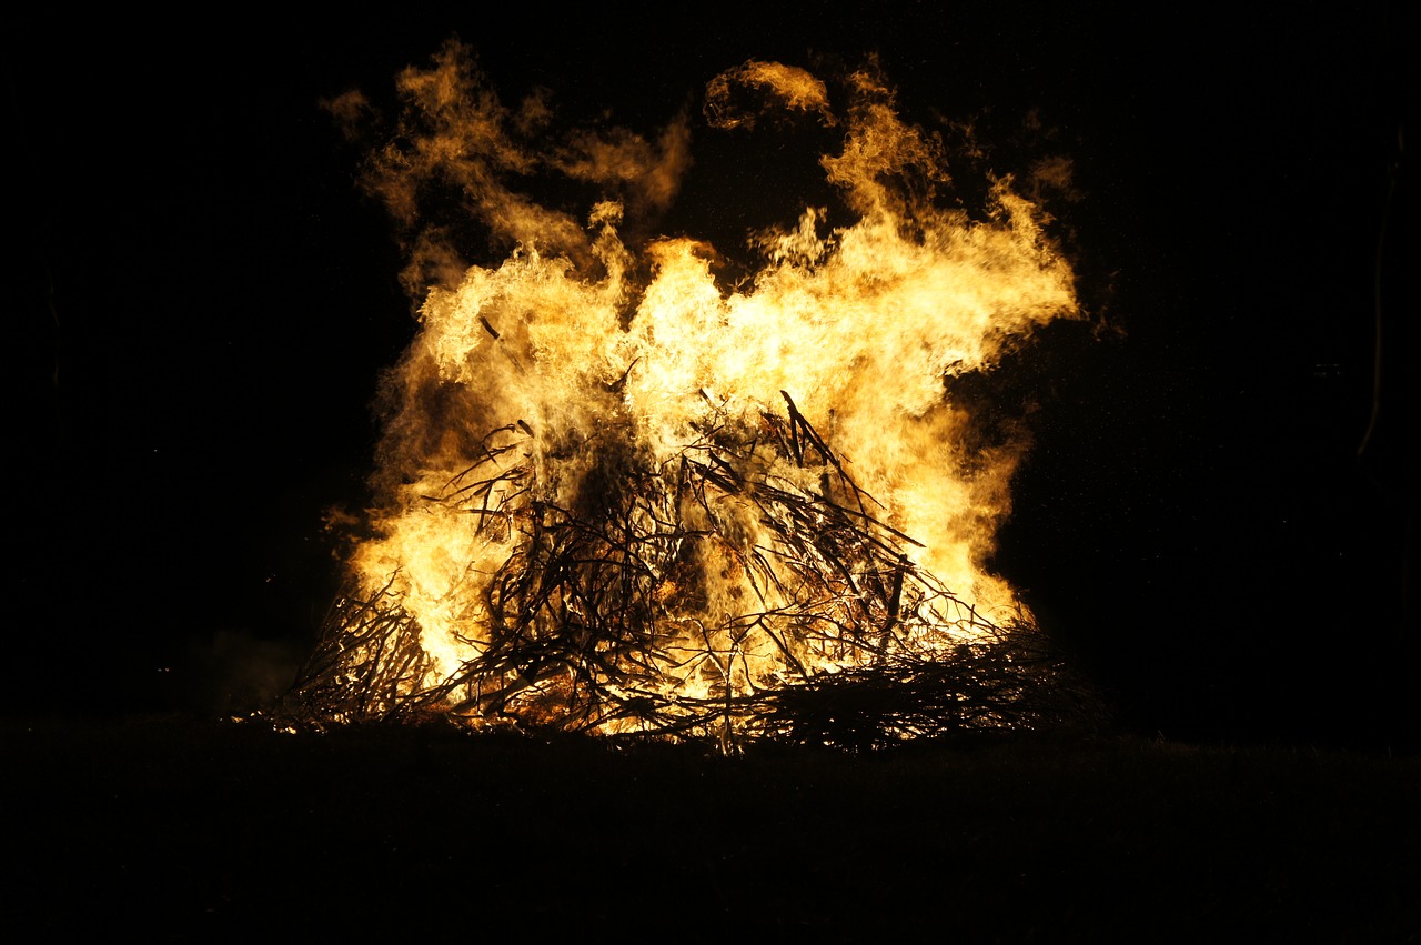
POLYGON ((917 543, 784 402, 708 425, 669 462, 617 431, 564 443, 591 458, 566 503, 537 480, 533 431, 493 431, 436 499, 507 547, 482 593, 486 638, 465 641, 477 655, 441 675, 394 584, 351 590, 286 723, 448 718, 871 749, 1084 718, 1036 628, 992 624, 918 568, 917 543))

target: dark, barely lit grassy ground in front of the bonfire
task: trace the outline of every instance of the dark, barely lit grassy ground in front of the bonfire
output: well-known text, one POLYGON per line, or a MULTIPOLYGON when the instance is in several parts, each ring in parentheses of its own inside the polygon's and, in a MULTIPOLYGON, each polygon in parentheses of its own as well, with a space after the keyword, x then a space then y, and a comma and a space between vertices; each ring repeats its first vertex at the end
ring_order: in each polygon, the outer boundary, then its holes
POLYGON ((614 750, 188 716, 4 726, 57 938, 1421 941, 1421 759, 1137 738, 614 750))

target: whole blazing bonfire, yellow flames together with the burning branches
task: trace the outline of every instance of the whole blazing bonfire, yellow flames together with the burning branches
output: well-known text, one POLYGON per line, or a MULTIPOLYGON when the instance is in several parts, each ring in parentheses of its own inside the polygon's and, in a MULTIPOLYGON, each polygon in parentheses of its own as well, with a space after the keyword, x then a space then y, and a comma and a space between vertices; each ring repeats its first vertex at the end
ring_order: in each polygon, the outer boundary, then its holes
POLYGON ((807 71, 747 63, 708 84, 706 131, 840 129, 820 166, 848 216, 753 234, 757 269, 728 286, 708 242, 639 236, 678 193, 689 118, 550 141, 547 95, 506 108, 458 44, 399 94, 371 186, 411 234, 419 328, 388 377, 368 537, 298 684, 313 712, 730 739, 793 726, 783 693, 921 681, 1032 630, 983 566, 1020 448, 971 446, 948 394, 1079 315, 1010 178, 978 213, 945 207, 942 145, 874 68, 836 108, 807 71), (549 173, 597 198, 574 215, 509 183, 549 173), (465 220, 421 229, 433 182, 465 220), (453 249, 469 220, 500 263, 453 249))

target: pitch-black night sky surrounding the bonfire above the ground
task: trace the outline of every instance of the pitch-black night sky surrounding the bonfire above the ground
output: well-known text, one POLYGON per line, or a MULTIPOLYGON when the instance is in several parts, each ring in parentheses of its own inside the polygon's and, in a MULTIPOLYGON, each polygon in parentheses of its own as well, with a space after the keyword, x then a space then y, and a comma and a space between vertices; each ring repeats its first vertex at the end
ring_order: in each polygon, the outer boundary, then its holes
MULTIPOLYGON (((506 101, 544 84, 644 134, 747 58, 877 53, 905 111, 975 119, 1003 168, 1043 141, 1071 158, 1060 220, 1098 331, 1053 327, 998 382, 1036 405, 998 568, 1140 730, 1414 732, 1395 4, 794 6, 9 24, 9 705, 207 708, 304 651, 338 578, 323 516, 364 499, 378 375, 414 333, 364 155, 318 102, 389 102, 458 34, 506 101)), ((688 193, 776 192, 718 153, 688 193)), ((725 199, 708 222, 733 236, 725 199)))

